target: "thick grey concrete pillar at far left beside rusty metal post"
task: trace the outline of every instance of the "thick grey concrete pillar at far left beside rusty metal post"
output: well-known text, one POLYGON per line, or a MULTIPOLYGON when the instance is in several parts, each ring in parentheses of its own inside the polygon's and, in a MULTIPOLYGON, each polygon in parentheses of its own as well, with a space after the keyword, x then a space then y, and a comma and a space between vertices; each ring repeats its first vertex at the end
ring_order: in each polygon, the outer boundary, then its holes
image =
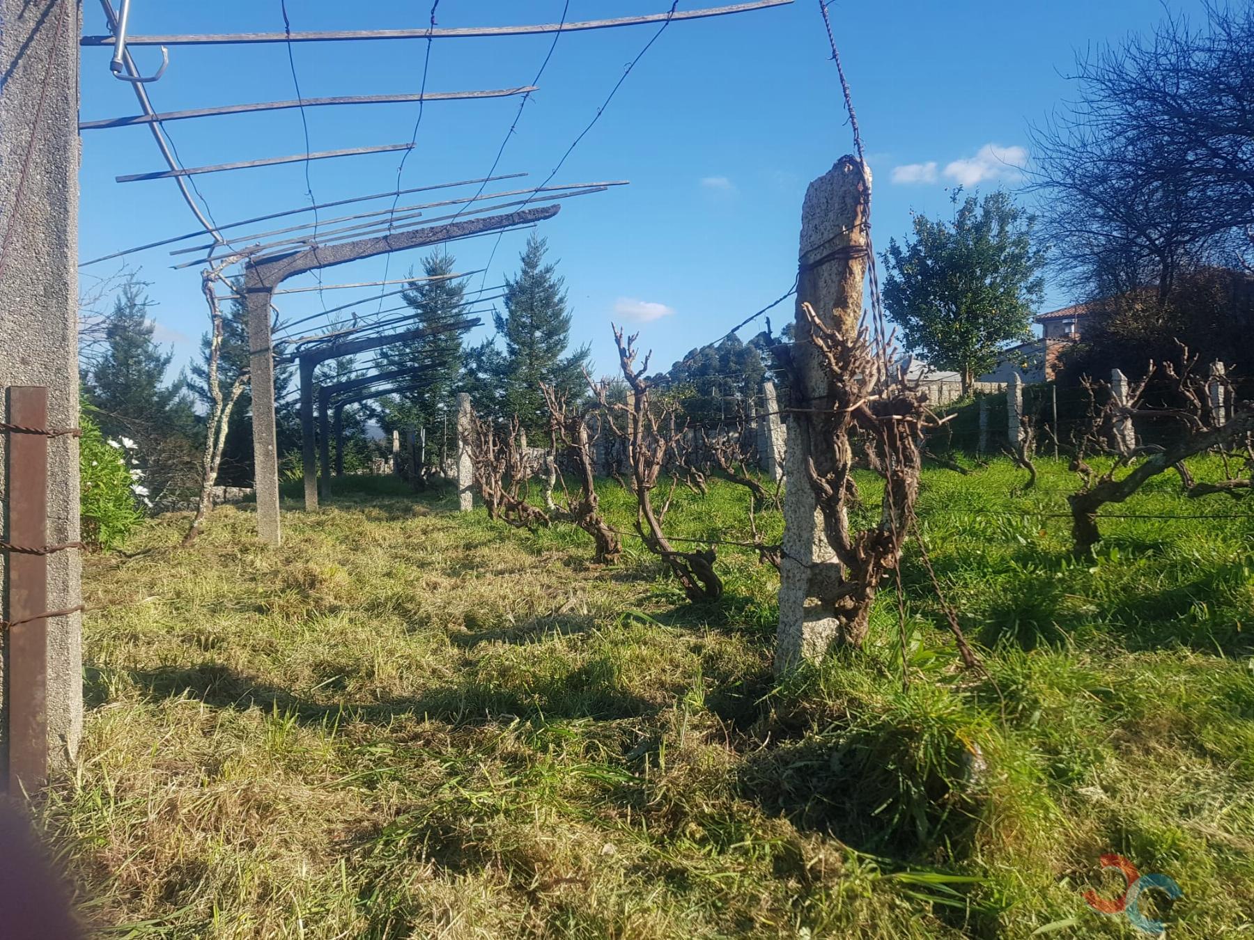
MULTIPOLYGON (((11 236, 0 261, 0 391, 45 386, 51 427, 76 426, 79 411, 79 14, 78 3, 0 0, 0 227, 11 236)), ((102 69, 98 80, 110 81, 105 63, 92 60, 102 69)), ((0 404, 5 397, 0 395, 0 404)), ((6 436, 0 434, 0 467, 8 466, 6 436)), ((78 440, 73 436, 48 439, 46 500, 48 543, 78 541, 78 440)), ((8 533, 9 506, 3 500, 0 511, 5 514, 0 531, 8 533)), ((66 549, 46 556, 48 609, 83 603, 80 555, 66 549)), ((0 565, 5 597, 6 577, 0 565)), ((5 607, 0 618, 8 613, 5 607)), ((73 760, 83 729, 82 617, 49 617, 45 623, 49 766, 60 768, 73 760)), ((9 640, 8 632, 0 632, 5 666, 9 640)), ((6 760, 3 742, 10 692, 4 689, 0 698, 0 760, 6 760)))

